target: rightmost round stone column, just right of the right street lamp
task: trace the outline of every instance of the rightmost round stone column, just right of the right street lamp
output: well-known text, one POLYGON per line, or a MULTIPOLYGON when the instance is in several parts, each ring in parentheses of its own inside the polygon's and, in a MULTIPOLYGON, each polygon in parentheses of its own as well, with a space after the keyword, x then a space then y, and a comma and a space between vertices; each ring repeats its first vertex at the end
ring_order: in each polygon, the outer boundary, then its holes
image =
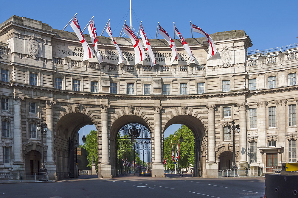
POLYGON ((246 103, 238 103, 239 107, 239 168, 247 168, 247 131, 246 131, 246 103))

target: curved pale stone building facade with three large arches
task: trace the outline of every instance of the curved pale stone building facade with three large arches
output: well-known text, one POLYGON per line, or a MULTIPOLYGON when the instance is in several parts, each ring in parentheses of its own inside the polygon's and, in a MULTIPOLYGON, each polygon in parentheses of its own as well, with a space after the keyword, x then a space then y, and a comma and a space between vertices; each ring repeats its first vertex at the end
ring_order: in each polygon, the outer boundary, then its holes
MULTIPOLYGON (((235 120, 238 167, 277 167, 297 160, 297 50, 247 55, 252 42, 243 30, 211 34, 218 53, 206 60, 204 38, 186 39, 196 58, 175 40, 181 58, 170 65, 164 40, 150 40, 157 64, 134 66, 128 38, 116 38, 125 61, 108 37, 98 37, 104 62, 83 59, 73 32, 12 16, 0 24, 0 172, 36 172, 41 159, 52 178, 75 167, 73 140, 94 124, 99 177, 117 176, 116 137, 125 124, 150 130, 152 176, 163 175, 163 132, 184 124, 195 137, 195 175, 217 177, 231 166, 227 124, 235 120)), ((90 43, 89 35, 85 36, 90 43)))

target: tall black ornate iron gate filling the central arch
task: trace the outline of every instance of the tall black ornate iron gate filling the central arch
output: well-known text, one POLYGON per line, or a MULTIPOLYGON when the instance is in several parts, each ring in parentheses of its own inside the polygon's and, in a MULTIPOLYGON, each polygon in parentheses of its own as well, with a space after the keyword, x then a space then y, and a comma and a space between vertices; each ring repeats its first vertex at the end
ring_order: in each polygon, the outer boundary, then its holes
POLYGON ((151 176, 151 134, 142 124, 127 124, 116 138, 117 175, 151 176))

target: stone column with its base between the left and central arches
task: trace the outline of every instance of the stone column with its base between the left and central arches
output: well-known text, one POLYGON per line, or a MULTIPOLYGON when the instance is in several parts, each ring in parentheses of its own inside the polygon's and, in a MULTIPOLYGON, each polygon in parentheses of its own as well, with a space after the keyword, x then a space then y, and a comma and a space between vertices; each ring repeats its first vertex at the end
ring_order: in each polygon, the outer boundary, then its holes
POLYGON ((101 105, 101 163, 98 164, 98 177, 111 176, 111 164, 109 160, 108 139, 108 108, 110 105, 101 105))

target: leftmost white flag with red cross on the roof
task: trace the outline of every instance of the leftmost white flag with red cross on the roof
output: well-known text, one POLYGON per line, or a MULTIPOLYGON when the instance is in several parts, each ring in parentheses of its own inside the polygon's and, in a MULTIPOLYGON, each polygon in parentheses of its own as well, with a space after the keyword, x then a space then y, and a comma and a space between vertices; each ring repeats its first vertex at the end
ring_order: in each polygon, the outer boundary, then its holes
POLYGON ((83 61, 91 58, 94 55, 94 52, 91 50, 91 48, 89 47, 87 41, 84 38, 84 35, 83 35, 82 30, 80 28, 79 22, 77 21, 77 17, 75 17, 73 19, 70 26, 72 26, 72 29, 75 31, 75 34, 77 35, 77 38, 80 40, 80 42, 83 46, 83 51, 84 51, 83 61))

